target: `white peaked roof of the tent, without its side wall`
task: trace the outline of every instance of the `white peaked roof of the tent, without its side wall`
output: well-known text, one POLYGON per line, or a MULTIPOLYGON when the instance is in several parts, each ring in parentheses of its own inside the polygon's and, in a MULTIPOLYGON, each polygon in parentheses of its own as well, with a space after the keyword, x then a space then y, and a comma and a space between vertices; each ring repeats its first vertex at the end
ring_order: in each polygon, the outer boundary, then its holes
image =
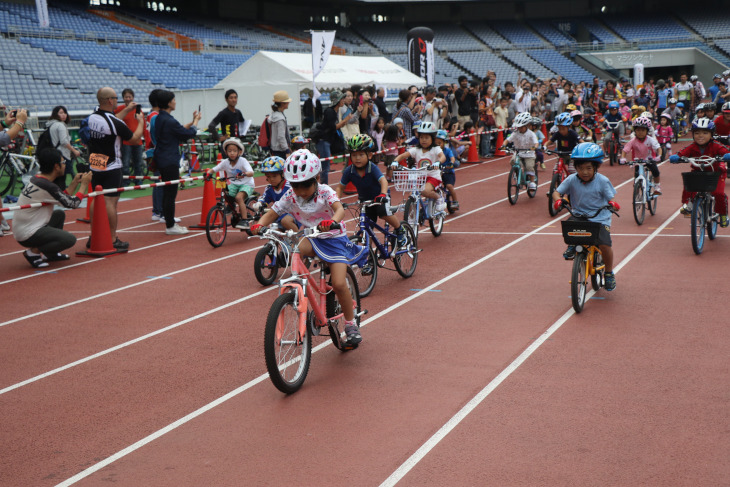
MULTIPOLYGON (((327 61, 317 76, 320 90, 383 85, 388 88, 422 87, 426 80, 414 75, 382 56, 335 56, 327 61)), ((221 80, 216 88, 260 85, 312 86, 312 55, 288 52, 259 51, 235 71, 221 80)), ((273 92, 272 92, 273 93, 273 92)))

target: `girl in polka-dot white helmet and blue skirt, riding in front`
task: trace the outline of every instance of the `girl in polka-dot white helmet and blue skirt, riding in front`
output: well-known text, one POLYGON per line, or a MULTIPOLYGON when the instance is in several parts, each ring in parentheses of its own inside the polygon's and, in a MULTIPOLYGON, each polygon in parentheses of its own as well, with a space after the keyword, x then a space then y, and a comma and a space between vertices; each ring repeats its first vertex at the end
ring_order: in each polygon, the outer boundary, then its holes
POLYGON ((261 227, 274 223, 280 215, 291 214, 304 226, 317 227, 326 232, 316 237, 306 237, 299 251, 304 257, 315 255, 327 262, 330 268, 331 285, 342 306, 345 316, 347 340, 356 345, 362 341, 360 329, 355 322, 352 294, 347 285, 347 267, 357 264, 363 266, 368 252, 365 247, 356 245, 347 238, 342 207, 335 191, 326 184, 319 183, 322 164, 319 158, 306 149, 293 152, 286 158, 284 178, 291 185, 282 198, 271 206, 258 223, 251 225, 251 233, 257 235, 261 227), (340 228, 330 230, 339 223, 340 228))

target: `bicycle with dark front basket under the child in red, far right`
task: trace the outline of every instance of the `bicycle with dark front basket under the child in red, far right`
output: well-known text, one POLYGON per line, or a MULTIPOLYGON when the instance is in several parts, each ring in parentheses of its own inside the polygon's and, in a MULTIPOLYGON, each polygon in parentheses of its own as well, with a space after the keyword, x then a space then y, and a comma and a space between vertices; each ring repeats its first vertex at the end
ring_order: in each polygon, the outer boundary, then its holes
POLYGON ((715 213, 715 197, 713 191, 720 182, 720 173, 712 171, 712 164, 722 161, 722 157, 700 156, 680 157, 679 162, 689 162, 699 171, 683 172, 682 181, 684 190, 695 195, 690 199, 692 213, 690 214, 690 237, 692 250, 699 255, 705 247, 705 231, 710 240, 717 236, 717 225, 720 216, 715 213), (705 169, 710 169, 706 172, 705 169))

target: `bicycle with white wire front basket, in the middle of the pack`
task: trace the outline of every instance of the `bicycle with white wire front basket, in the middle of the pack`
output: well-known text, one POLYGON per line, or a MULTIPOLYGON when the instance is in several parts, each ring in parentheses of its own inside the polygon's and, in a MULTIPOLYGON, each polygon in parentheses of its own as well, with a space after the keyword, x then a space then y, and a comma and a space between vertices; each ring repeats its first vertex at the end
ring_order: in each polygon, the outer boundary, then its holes
MULTIPOLYGON (((393 171, 393 185, 395 189, 403 192, 410 192, 405 201, 404 214, 405 220, 413 229, 413 233, 418 238, 418 230, 421 225, 428 220, 428 226, 434 237, 441 235, 444 229, 444 218, 446 212, 436 210, 436 201, 431 198, 421 197, 421 191, 426 185, 426 176, 432 168, 438 168, 437 164, 427 166, 421 169, 408 169, 406 167, 398 167, 393 171)), ((444 198, 443 185, 436 188, 439 194, 439 200, 444 198)), ((444 200, 445 201, 445 200, 444 200)))

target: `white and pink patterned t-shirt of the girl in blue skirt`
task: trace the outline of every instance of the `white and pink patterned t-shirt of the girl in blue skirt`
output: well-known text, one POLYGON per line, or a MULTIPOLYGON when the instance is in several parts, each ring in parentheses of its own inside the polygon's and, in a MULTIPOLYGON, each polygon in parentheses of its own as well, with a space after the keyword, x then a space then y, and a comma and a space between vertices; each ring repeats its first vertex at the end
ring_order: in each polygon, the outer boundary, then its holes
MULTIPOLYGON (((277 215, 289 213, 305 227, 316 227, 322 220, 331 220, 335 214, 332 205, 340 201, 335 190, 326 184, 318 184, 314 195, 303 200, 294 194, 291 189, 279 201, 271 206, 277 215)), ((317 236, 317 238, 332 238, 346 235, 345 221, 340 222, 340 230, 332 230, 331 235, 317 236)))

